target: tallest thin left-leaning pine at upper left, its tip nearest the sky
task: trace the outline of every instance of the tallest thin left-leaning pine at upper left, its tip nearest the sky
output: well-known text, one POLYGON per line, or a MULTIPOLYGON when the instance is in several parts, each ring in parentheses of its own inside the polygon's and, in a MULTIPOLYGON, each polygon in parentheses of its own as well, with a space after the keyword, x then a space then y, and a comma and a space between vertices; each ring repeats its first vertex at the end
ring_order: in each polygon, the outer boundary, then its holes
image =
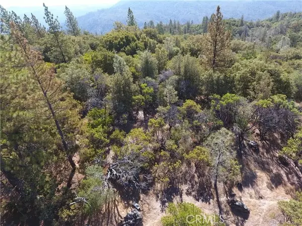
POLYGON ((58 21, 58 18, 53 18, 53 14, 48 11, 48 7, 45 6, 43 3, 44 11, 45 11, 45 22, 48 24, 48 32, 53 36, 53 42, 55 43, 56 47, 59 49, 60 55, 62 57, 61 61, 63 63, 67 63, 67 57, 64 53, 64 44, 65 44, 65 37, 64 34, 60 31, 61 26, 58 21))

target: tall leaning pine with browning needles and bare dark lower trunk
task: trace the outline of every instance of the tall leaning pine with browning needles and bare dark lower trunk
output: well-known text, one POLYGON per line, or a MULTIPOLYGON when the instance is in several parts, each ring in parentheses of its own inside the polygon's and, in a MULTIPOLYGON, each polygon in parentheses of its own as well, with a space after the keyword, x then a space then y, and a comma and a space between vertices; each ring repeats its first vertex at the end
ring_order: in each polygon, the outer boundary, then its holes
POLYGON ((77 104, 70 94, 62 92, 62 84, 56 78, 53 68, 44 63, 39 52, 30 48, 27 40, 20 34, 14 24, 11 25, 11 31, 16 44, 21 49, 21 55, 24 58, 30 78, 40 89, 40 96, 44 100, 47 109, 44 114, 47 114, 53 120, 63 151, 72 167, 70 177, 67 181, 67 187, 70 188, 76 169, 75 163, 72 160, 70 144, 75 143, 75 139, 71 134, 78 126, 77 120, 79 120, 79 117, 77 116, 77 112, 74 112, 74 108, 77 109, 77 104))

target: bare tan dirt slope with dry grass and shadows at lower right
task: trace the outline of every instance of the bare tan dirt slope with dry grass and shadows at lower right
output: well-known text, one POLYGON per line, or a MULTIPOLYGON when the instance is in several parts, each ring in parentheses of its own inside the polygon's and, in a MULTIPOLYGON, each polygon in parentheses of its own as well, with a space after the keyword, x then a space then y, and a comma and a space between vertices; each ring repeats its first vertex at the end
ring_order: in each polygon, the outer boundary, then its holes
MULTIPOLYGON (((283 216, 278 209, 279 200, 288 200, 296 190, 302 189, 302 174, 289 162, 282 165, 277 152, 280 145, 271 140, 268 143, 260 143, 259 152, 246 149, 241 164, 242 185, 239 190, 234 189, 236 198, 242 200, 250 209, 248 217, 240 217, 232 213, 223 187, 220 185, 219 194, 223 206, 223 214, 230 225, 278 225, 283 216)), ((181 187, 181 195, 175 196, 174 201, 192 202, 206 213, 218 213, 215 199, 208 202, 197 201, 192 196, 186 195, 187 185, 181 187)), ((161 217, 165 215, 164 206, 157 200, 153 191, 142 195, 140 204, 143 209, 143 225, 161 225, 161 217)))

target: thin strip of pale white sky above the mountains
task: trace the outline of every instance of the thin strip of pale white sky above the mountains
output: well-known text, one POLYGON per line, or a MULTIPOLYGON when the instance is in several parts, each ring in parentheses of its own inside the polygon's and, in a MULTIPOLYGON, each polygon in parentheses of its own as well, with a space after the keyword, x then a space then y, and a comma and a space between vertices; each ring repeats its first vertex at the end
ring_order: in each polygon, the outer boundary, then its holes
POLYGON ((119 0, 5 0, 1 5, 5 8, 8 7, 33 7, 42 6, 72 6, 72 5, 113 5, 119 0))

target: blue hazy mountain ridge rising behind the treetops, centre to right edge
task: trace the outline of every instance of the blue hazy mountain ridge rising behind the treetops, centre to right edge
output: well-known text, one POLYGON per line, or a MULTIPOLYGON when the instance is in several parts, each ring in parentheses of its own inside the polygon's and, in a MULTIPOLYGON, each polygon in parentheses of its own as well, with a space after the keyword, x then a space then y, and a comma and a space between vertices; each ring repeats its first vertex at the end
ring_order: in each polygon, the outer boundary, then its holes
POLYGON ((300 12, 302 1, 121 1, 114 6, 88 13, 78 17, 83 30, 91 33, 106 33, 113 28, 115 21, 126 22, 127 10, 130 7, 139 27, 144 22, 153 20, 155 23, 179 20, 181 23, 193 21, 201 23, 203 16, 210 16, 220 6, 224 18, 241 18, 245 20, 266 19, 278 10, 300 12))

